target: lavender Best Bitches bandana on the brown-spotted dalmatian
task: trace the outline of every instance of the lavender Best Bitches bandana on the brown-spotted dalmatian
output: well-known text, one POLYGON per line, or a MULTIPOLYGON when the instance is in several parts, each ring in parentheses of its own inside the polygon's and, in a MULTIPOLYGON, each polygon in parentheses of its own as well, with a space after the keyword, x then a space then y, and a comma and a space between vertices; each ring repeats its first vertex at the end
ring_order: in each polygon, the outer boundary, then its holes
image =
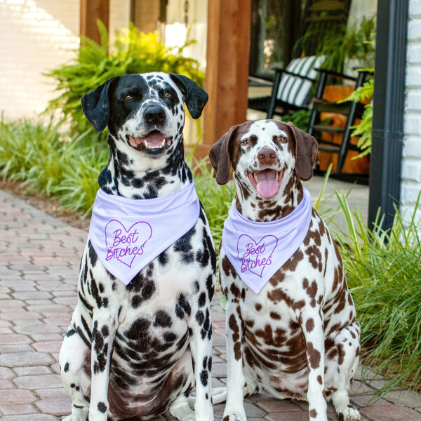
POLYGON ((295 253, 312 220, 312 196, 304 189, 300 204, 285 218, 253 222, 232 203, 222 232, 222 247, 241 281, 258 294, 272 275, 295 253))

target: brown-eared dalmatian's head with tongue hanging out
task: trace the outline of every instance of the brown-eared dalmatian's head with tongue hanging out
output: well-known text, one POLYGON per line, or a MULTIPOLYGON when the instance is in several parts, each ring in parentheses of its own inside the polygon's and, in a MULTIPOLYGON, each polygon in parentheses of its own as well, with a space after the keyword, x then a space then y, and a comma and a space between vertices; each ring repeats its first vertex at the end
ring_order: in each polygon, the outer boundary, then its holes
POLYGON ((229 181, 232 166, 236 180, 264 198, 283 192, 292 177, 312 178, 316 154, 316 139, 276 120, 233 126, 209 152, 220 185, 229 181))

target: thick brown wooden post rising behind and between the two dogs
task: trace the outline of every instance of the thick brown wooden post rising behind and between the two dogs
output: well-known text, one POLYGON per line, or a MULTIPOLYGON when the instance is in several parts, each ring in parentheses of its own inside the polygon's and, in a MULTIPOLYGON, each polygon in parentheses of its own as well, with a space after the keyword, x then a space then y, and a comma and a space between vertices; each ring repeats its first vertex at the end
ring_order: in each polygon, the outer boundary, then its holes
POLYGON ((251 0, 209 0, 203 142, 196 158, 231 126, 246 121, 251 0))

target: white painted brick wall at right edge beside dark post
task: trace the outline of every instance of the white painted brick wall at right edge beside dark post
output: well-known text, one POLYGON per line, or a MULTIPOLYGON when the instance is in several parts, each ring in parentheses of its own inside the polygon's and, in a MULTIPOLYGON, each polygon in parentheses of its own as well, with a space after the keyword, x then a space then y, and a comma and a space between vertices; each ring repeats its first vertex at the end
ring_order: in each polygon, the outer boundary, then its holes
MULTIPOLYGON (((409 2, 406 68, 401 210, 408 218, 421 189, 421 0, 409 2)), ((420 207, 417 220, 421 220, 420 207)))

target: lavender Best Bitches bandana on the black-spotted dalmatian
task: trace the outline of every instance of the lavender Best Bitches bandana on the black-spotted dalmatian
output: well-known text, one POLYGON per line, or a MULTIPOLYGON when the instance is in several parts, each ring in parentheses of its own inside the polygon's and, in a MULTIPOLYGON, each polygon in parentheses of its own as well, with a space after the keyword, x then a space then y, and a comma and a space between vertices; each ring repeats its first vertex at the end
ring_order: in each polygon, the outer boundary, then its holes
POLYGON ((127 285, 199 218, 194 182, 155 199, 127 199, 98 190, 89 238, 102 265, 127 285))

